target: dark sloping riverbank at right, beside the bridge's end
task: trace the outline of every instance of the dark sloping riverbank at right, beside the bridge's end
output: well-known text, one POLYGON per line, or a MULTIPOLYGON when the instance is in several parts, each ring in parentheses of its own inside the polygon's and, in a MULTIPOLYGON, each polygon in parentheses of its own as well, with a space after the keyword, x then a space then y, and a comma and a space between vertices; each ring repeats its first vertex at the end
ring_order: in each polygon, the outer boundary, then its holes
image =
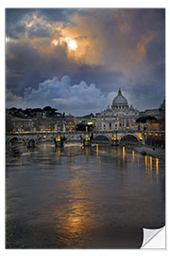
POLYGON ((153 157, 157 157, 160 159, 164 159, 165 160, 165 149, 161 149, 161 148, 153 148, 149 145, 133 145, 133 146, 127 146, 127 148, 132 148, 135 152, 137 153, 141 153, 142 155, 150 155, 153 157))

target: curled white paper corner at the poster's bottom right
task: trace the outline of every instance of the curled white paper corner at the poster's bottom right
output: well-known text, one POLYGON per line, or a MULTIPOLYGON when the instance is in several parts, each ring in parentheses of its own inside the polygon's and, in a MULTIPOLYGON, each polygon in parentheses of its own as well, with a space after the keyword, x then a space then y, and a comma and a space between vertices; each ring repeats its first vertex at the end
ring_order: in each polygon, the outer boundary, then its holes
POLYGON ((144 229, 144 240, 141 248, 165 249, 165 227, 161 229, 144 229))

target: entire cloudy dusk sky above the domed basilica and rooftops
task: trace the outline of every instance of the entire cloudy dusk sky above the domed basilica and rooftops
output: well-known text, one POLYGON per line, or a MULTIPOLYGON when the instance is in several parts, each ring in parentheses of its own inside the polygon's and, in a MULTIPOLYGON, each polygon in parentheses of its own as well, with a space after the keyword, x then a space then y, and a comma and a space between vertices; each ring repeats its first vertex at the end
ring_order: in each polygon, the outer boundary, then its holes
POLYGON ((6 107, 95 114, 119 88, 138 110, 164 100, 164 9, 6 9, 6 107))

